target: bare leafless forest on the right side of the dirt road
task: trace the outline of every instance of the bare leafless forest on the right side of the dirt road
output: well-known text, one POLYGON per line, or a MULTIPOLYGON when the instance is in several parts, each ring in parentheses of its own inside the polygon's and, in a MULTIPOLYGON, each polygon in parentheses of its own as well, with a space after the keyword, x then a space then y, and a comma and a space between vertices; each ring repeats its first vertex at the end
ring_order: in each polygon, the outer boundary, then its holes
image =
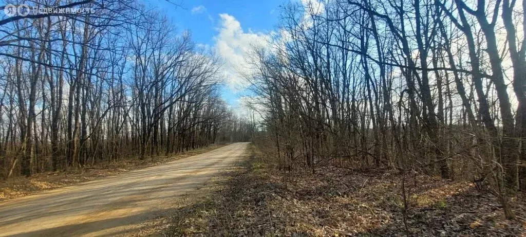
POLYGON ((509 197, 526 190, 526 2, 302 3, 282 7, 247 60, 267 156, 292 176, 336 160, 488 182, 513 218, 509 197))

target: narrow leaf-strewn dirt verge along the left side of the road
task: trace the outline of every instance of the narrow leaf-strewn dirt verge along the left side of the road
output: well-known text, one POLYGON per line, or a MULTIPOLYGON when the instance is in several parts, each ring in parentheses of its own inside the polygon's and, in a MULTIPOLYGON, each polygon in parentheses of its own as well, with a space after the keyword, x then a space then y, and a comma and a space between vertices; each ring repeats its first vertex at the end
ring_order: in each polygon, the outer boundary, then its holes
POLYGON ((182 152, 171 156, 157 156, 153 159, 139 160, 138 157, 123 159, 114 162, 100 163, 95 166, 87 166, 81 169, 73 169, 62 172, 46 172, 31 177, 11 177, 0 181, 0 202, 15 197, 35 194, 44 190, 53 190, 59 187, 100 179, 132 170, 144 169, 153 165, 176 161, 189 156, 205 153, 218 149, 226 144, 211 144, 207 147, 182 152))

